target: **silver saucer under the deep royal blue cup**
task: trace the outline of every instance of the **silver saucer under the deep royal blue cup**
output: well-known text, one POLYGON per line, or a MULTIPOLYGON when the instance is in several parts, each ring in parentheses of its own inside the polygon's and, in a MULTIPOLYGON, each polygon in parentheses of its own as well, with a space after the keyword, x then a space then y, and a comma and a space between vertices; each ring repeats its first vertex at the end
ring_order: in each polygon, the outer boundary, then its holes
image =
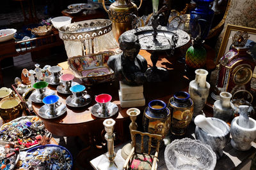
POLYGON ((57 118, 60 117, 61 115, 63 115, 65 112, 67 111, 67 107, 65 106, 65 104, 60 103, 59 106, 56 106, 56 111, 54 113, 54 115, 51 115, 49 107, 45 104, 44 106, 42 106, 38 112, 38 114, 40 115, 40 117, 42 118, 47 118, 47 119, 51 119, 51 118, 57 118))

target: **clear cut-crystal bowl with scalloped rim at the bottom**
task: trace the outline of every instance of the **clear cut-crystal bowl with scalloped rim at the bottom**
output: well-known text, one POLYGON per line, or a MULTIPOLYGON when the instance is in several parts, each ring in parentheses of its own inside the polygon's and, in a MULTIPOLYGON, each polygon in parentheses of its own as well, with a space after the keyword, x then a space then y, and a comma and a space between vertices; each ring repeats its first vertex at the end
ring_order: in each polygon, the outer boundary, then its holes
POLYGON ((202 141, 183 138, 166 146, 164 160, 168 169, 214 169, 216 154, 202 141))

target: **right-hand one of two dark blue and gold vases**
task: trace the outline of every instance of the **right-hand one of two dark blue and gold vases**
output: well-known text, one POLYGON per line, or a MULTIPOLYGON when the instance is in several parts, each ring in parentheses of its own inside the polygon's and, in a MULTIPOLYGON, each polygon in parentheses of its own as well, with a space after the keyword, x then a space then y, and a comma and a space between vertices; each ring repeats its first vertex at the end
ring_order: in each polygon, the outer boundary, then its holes
POLYGON ((168 108, 171 113, 171 132, 184 135, 193 117, 194 104, 187 92, 176 92, 169 100, 168 108))

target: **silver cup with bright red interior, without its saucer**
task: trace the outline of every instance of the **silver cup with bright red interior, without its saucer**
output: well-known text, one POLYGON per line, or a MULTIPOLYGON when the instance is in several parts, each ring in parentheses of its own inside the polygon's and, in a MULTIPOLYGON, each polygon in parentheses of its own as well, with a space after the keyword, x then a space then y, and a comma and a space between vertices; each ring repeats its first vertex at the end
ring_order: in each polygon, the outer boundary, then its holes
POLYGON ((108 116, 108 104, 111 99, 112 96, 110 96, 109 94, 99 94, 98 96, 95 96, 95 101, 100 105, 99 113, 104 116, 108 116))

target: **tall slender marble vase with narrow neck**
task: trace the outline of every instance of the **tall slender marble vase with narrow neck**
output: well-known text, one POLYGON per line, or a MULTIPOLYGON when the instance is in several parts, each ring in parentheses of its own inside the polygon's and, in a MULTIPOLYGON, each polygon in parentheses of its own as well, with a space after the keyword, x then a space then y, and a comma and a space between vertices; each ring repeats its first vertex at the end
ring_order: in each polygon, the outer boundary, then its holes
POLYGON ((189 95, 194 103, 193 117, 202 113, 202 109, 207 101, 209 95, 210 84, 206 81, 208 71, 205 69, 196 69, 195 80, 189 83, 189 95))

